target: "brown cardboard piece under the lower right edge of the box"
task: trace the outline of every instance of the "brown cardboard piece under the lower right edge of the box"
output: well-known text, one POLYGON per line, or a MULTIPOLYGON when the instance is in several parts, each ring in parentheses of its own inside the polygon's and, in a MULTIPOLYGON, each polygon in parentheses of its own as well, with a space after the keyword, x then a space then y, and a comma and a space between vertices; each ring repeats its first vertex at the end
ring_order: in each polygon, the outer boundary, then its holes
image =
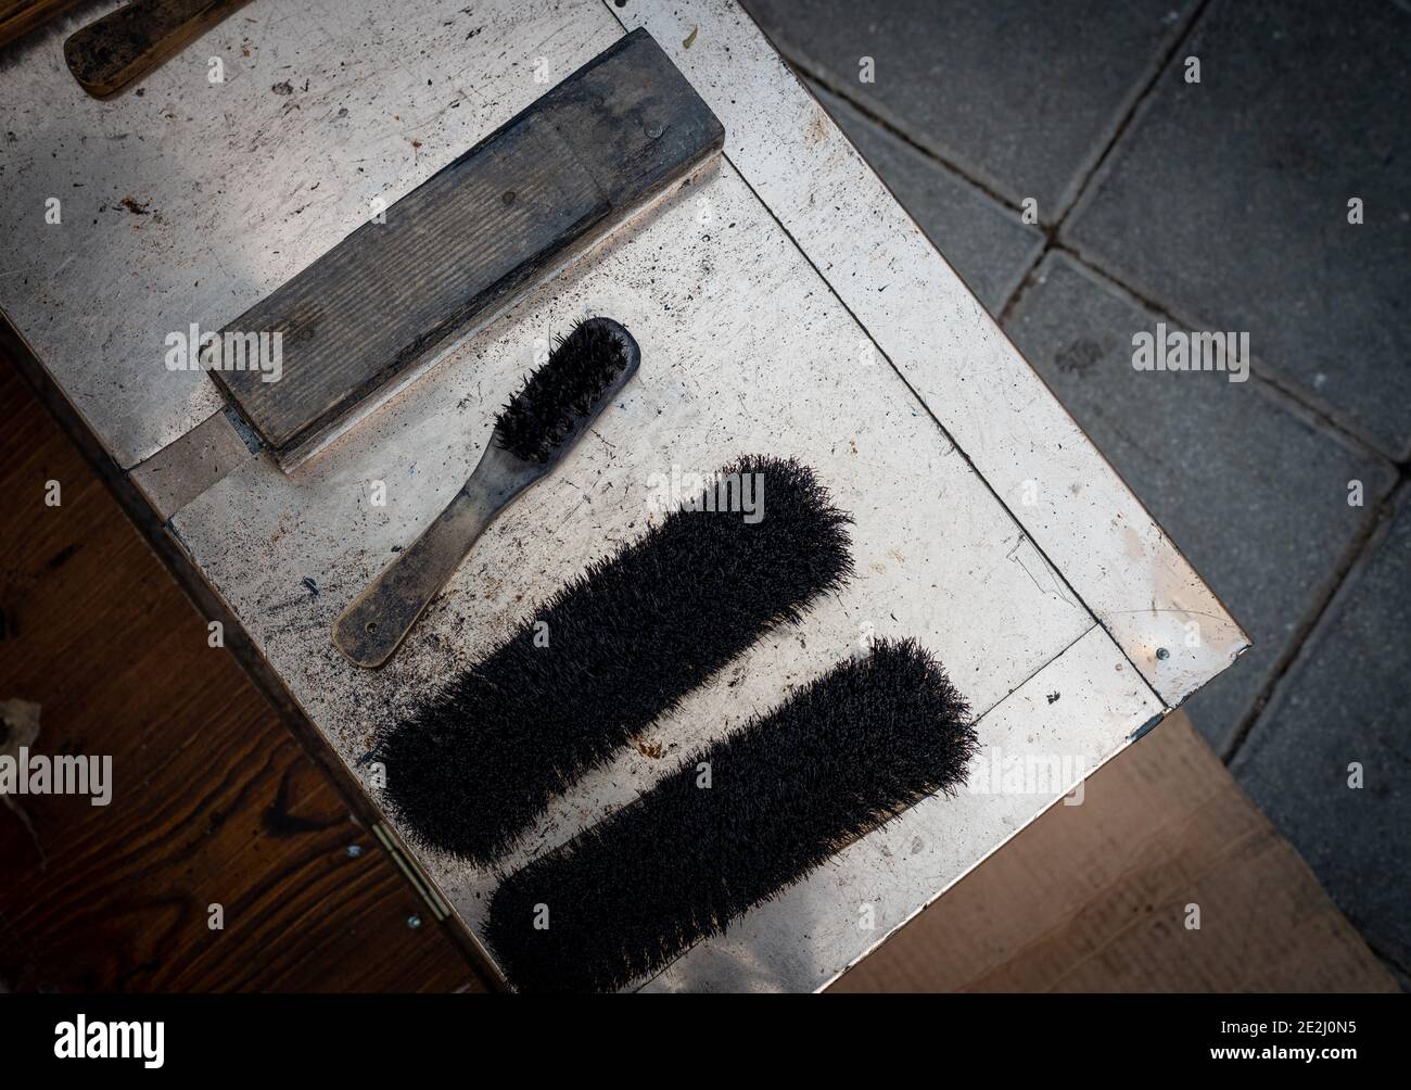
POLYGON ((1397 991, 1184 712, 831 991, 1397 991), (1199 909, 1199 929, 1188 928, 1199 909))

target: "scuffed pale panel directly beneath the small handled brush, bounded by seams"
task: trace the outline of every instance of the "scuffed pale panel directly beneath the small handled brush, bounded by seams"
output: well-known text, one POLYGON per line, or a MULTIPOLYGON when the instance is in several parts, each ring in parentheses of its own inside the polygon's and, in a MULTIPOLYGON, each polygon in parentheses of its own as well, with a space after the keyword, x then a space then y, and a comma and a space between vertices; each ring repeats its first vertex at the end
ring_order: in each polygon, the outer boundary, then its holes
MULTIPOLYGON (((725 167, 531 295, 306 472, 289 477, 267 456, 254 459, 174 525, 292 695, 365 772, 356 761, 380 724, 488 651, 586 562, 645 532, 653 473, 710 470, 742 450, 796 455, 816 469, 856 520, 852 585, 658 724, 650 741, 662 760, 629 750, 571 791, 507 861, 514 867, 823 673, 851 654, 865 624, 919 637, 976 709, 1094 627, 896 373, 864 361, 861 342, 725 167), (698 222, 700 198, 715 213, 708 224, 698 222), (358 671, 329 642, 334 616, 470 473, 536 337, 590 309, 632 329, 639 376, 564 466, 480 541, 392 664, 358 671), (374 480, 387 481, 385 508, 370 504, 374 480)), ((766 493, 766 518, 768 504, 766 493)), ((494 875, 437 853, 422 861, 478 925, 494 875)))

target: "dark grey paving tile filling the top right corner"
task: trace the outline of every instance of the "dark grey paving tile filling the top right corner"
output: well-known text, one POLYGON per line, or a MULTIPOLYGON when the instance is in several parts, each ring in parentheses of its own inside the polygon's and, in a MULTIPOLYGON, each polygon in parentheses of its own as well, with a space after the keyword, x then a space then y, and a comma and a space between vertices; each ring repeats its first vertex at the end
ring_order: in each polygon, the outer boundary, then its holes
POLYGON ((1187 321, 1249 330, 1256 360, 1405 456, 1411 10, 1215 0, 1180 52, 1065 241, 1187 321))

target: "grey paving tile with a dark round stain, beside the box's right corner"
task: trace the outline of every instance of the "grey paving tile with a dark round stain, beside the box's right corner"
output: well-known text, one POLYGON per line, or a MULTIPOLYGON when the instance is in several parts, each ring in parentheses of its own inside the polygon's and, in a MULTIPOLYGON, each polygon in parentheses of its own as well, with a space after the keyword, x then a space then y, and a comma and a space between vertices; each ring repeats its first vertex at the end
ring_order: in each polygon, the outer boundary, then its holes
POLYGON ((1051 253, 1006 332, 1253 638, 1189 703, 1225 753, 1394 473, 1259 380, 1134 370, 1133 333, 1156 322, 1120 288, 1051 253), (1349 480, 1363 481, 1363 507, 1348 504, 1349 480))

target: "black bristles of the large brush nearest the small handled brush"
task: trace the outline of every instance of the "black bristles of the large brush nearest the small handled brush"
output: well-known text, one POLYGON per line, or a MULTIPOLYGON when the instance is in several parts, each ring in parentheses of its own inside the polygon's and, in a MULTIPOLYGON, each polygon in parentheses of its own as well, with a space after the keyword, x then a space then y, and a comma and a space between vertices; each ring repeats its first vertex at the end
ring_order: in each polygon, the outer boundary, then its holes
POLYGON ((564 786, 842 586, 851 520, 813 472, 746 456, 732 473, 761 474, 759 521, 672 511, 380 740, 387 806, 413 837, 494 861, 564 786))

